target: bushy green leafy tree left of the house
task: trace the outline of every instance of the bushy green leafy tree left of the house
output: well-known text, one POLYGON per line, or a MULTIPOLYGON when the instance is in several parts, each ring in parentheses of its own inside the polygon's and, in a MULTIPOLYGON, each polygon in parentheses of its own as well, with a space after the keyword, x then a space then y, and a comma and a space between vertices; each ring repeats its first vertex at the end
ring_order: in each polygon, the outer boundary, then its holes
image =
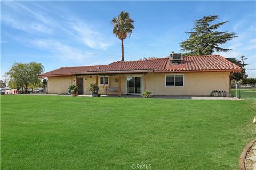
POLYGON ((11 78, 11 85, 19 88, 25 87, 27 91, 29 84, 32 86, 37 86, 40 83, 38 77, 44 70, 41 63, 31 62, 31 63, 14 63, 9 72, 6 74, 11 78))

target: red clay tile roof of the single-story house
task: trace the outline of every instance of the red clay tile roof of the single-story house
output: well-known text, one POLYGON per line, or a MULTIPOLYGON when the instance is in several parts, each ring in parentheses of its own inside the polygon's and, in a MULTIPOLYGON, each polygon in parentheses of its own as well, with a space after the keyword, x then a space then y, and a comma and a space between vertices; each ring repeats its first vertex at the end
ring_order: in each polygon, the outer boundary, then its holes
POLYGON ((168 57, 137 61, 118 61, 109 65, 93 65, 80 67, 61 67, 40 77, 95 74, 109 72, 201 72, 201 71, 241 71, 241 68, 220 55, 183 57, 183 64, 173 65, 168 57))

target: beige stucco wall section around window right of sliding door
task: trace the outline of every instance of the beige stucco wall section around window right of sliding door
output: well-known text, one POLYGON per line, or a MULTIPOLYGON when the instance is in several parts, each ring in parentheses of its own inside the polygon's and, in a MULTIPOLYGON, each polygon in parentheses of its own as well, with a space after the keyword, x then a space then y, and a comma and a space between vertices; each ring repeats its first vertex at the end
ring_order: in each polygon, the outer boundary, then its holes
POLYGON ((229 92, 229 72, 180 73, 184 75, 184 86, 165 86, 165 75, 147 74, 146 89, 154 95, 209 96, 213 90, 229 92))

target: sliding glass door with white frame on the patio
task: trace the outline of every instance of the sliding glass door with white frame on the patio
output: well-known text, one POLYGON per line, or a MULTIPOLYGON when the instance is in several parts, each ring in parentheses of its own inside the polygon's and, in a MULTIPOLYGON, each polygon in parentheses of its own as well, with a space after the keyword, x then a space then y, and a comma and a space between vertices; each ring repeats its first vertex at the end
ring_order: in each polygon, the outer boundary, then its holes
POLYGON ((141 94, 141 77, 131 76, 126 78, 127 94, 141 94))

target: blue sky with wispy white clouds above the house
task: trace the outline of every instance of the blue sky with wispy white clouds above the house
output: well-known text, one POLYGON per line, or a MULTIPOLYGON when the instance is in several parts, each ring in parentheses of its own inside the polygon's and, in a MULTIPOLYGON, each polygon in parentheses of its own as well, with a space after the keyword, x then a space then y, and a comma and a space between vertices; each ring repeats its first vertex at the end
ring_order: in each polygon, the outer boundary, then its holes
POLYGON ((121 60, 110 21, 122 10, 135 21, 124 41, 126 61, 179 52, 195 20, 219 15, 218 22, 229 21, 220 31, 238 37, 222 45, 233 50, 218 54, 245 55, 256 77, 255 1, 1 1, 1 79, 14 62, 40 62, 47 72, 121 60))

